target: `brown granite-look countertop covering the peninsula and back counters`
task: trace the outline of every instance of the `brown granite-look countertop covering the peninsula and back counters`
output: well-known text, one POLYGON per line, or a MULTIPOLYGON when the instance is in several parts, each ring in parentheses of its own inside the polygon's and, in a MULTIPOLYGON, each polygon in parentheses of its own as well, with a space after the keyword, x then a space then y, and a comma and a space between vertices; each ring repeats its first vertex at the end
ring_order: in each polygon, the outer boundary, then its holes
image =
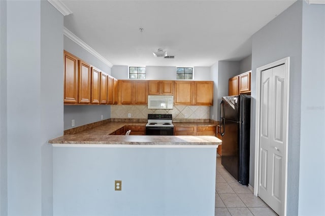
MULTIPOLYGON (((213 123, 173 122, 176 126, 215 126, 213 123)), ((152 145, 152 146, 217 146, 221 140, 215 136, 146 136, 146 135, 109 135, 126 125, 145 126, 146 122, 108 122, 76 134, 65 134, 49 140, 49 143, 64 144, 106 144, 106 145, 152 145)))

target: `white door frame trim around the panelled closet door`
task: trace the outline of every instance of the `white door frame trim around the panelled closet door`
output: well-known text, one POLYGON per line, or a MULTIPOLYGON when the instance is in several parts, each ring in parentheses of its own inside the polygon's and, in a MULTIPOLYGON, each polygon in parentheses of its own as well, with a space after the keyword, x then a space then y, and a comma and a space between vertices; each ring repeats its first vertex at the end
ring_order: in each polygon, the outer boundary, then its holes
POLYGON ((269 69, 271 67, 276 67, 281 64, 285 65, 285 83, 284 83, 284 152, 283 152, 283 170, 282 176, 284 179, 282 181, 282 206, 281 206, 281 214, 286 215, 286 205, 287 205, 287 156, 288 156, 288 123, 289 123, 289 72, 290 72, 290 57, 282 58, 275 62, 269 63, 267 65, 258 67, 256 69, 256 113, 255 113, 255 165, 254 165, 254 195, 258 196, 258 177, 259 177, 259 114, 260 114, 260 99, 261 99, 261 75, 262 71, 269 69))

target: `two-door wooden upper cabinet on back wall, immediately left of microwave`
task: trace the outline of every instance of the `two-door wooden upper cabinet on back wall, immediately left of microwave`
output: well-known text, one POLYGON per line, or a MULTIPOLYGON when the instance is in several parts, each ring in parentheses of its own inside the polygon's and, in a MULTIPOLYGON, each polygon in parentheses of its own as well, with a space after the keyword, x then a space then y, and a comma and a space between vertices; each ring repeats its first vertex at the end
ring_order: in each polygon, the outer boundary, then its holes
POLYGON ((119 80, 118 83, 120 104, 148 103, 147 81, 119 80))

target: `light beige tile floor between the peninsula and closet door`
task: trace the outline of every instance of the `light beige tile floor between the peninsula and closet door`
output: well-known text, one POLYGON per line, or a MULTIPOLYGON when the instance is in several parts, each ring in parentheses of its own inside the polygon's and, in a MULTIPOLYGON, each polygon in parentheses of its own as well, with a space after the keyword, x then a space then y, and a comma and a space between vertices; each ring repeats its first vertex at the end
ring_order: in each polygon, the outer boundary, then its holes
POLYGON ((215 216, 277 215, 262 199, 255 197, 247 186, 239 184, 221 165, 217 157, 215 216))

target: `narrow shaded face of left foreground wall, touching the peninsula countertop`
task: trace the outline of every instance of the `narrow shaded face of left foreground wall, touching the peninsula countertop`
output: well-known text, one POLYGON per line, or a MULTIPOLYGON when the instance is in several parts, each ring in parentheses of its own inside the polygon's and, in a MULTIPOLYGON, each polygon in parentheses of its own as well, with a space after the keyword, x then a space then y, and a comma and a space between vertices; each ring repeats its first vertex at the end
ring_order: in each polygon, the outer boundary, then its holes
POLYGON ((47 1, 41 1, 41 200, 42 215, 53 213, 53 157, 48 140, 63 130, 63 15, 47 1))

